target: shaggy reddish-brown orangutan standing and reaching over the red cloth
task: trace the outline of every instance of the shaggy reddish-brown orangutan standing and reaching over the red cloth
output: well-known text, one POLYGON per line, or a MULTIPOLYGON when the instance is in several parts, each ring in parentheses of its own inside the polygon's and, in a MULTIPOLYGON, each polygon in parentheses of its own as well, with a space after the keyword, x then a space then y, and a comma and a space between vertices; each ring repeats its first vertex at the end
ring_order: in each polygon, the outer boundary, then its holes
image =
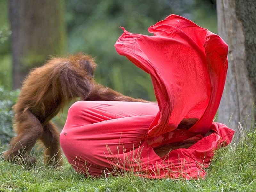
POLYGON ((35 157, 28 156, 28 153, 36 141, 41 140, 46 147, 45 163, 61 165, 59 132, 50 120, 74 98, 145 102, 97 84, 93 79, 95 68, 92 57, 77 54, 68 58, 52 58, 44 66, 32 70, 23 82, 13 107, 17 136, 11 140, 11 148, 4 152, 4 159, 34 164, 35 157))

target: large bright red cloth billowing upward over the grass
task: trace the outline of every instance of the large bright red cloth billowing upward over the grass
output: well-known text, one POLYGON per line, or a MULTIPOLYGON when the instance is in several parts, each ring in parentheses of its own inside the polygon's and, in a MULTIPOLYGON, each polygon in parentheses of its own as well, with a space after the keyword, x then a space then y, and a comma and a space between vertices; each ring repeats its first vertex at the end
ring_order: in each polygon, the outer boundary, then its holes
POLYGON ((77 171, 101 175, 103 170, 129 170, 149 178, 200 178, 214 150, 231 142, 234 131, 213 122, 227 73, 227 44, 177 15, 151 26, 149 32, 154 36, 124 29, 115 47, 150 74, 158 105, 75 103, 60 143, 77 171), (177 129, 187 118, 199 120, 188 130, 177 129), (159 146, 193 141, 189 148, 172 150, 162 158, 155 153, 159 146))

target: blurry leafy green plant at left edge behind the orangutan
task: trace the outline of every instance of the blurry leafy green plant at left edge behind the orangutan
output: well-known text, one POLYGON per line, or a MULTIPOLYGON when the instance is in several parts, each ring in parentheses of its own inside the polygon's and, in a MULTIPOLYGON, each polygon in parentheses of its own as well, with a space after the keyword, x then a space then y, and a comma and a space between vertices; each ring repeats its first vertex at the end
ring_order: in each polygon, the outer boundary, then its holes
POLYGON ((19 90, 8 91, 0 86, 0 141, 7 144, 15 135, 12 128, 14 112, 12 106, 15 104, 19 90))

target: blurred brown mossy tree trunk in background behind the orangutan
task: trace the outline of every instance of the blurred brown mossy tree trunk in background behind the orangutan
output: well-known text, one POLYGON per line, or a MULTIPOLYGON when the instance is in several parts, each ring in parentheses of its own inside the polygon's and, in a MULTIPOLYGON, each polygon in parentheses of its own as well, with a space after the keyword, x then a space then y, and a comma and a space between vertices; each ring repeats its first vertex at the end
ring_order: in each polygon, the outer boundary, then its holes
POLYGON ((65 53, 64 1, 10 0, 12 88, 19 88, 29 69, 49 55, 65 53))

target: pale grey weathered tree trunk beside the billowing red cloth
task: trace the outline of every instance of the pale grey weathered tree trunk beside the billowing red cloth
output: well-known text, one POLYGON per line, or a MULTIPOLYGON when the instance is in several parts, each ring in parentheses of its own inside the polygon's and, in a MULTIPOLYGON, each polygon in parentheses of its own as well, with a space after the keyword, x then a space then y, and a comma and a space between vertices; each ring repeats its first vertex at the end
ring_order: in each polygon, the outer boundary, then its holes
POLYGON ((251 128, 256 103, 255 0, 217 0, 219 35, 229 46, 228 75, 218 121, 237 133, 251 128))

